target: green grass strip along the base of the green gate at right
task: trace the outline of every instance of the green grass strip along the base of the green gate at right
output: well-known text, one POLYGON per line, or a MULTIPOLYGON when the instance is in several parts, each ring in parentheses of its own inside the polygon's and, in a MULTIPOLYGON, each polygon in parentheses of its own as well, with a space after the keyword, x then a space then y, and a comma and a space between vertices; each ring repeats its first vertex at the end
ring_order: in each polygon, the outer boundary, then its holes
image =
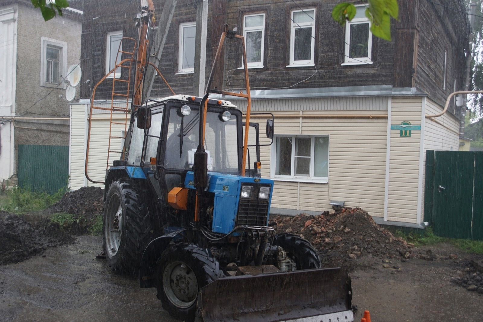
POLYGON ((431 227, 426 228, 424 234, 417 234, 413 232, 405 234, 402 230, 398 230, 396 232, 396 236, 404 238, 406 241, 413 243, 415 246, 428 246, 442 242, 449 242, 465 252, 483 254, 482 240, 440 237, 433 233, 433 229, 431 227))

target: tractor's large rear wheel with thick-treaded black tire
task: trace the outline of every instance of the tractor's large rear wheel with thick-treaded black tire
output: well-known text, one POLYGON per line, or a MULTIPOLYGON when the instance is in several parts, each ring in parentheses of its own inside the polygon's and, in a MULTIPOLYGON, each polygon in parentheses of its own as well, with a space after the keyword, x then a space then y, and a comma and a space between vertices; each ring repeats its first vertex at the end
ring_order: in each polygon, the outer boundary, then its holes
POLYGON ((114 181, 104 206, 104 252, 113 271, 137 277, 141 256, 152 240, 146 208, 126 181, 114 181))

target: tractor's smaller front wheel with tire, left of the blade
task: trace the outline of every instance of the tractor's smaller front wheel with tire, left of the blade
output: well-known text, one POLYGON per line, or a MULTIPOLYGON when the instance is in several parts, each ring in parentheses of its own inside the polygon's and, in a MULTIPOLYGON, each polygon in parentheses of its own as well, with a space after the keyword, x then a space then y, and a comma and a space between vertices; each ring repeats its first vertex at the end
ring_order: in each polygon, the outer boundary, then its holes
POLYGON ((157 261, 157 298, 172 317, 194 321, 198 292, 223 277, 218 261, 195 245, 174 245, 157 261))

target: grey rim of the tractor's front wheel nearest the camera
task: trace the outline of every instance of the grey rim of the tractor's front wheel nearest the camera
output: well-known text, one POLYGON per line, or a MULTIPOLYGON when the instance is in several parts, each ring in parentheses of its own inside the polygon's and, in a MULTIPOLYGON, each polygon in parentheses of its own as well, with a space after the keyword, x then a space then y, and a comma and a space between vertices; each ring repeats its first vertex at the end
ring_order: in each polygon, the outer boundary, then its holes
POLYGON ((172 304, 180 308, 193 305, 198 295, 195 272, 186 263, 172 262, 163 271, 163 289, 172 304))

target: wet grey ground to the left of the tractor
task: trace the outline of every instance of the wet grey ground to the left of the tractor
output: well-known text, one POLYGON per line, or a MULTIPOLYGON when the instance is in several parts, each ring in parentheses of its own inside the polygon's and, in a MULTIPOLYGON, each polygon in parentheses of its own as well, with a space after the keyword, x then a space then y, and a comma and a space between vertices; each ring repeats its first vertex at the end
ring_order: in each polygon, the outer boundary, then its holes
MULTIPOLYGON (((0 246, 1 247, 1 246, 0 246)), ((176 321, 134 278, 96 259, 102 237, 79 236, 22 263, 0 266, 0 322, 176 321)))

